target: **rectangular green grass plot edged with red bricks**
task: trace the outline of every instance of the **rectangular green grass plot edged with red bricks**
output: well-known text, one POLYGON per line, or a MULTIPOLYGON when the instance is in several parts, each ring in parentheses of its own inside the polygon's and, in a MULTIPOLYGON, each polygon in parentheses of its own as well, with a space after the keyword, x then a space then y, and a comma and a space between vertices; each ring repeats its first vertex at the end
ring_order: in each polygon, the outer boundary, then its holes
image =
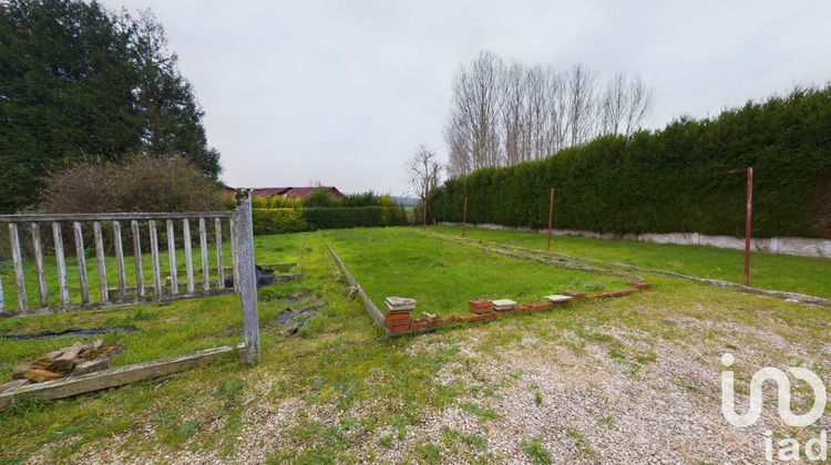
POLYGON ((355 279, 380 304, 387 297, 418 301, 420 312, 469 312, 469 300, 538 301, 563 290, 598 293, 626 288, 626 280, 517 260, 431 239, 412 229, 327 231, 355 279))

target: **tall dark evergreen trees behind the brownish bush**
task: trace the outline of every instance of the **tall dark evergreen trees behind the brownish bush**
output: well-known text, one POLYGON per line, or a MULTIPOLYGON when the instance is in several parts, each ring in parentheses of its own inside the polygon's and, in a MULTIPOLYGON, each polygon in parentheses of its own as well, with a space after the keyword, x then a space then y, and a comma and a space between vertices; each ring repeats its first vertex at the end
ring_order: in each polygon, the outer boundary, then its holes
POLYGON ((79 163, 181 156, 220 172, 204 112, 150 10, 95 1, 0 1, 0 213, 79 163))

